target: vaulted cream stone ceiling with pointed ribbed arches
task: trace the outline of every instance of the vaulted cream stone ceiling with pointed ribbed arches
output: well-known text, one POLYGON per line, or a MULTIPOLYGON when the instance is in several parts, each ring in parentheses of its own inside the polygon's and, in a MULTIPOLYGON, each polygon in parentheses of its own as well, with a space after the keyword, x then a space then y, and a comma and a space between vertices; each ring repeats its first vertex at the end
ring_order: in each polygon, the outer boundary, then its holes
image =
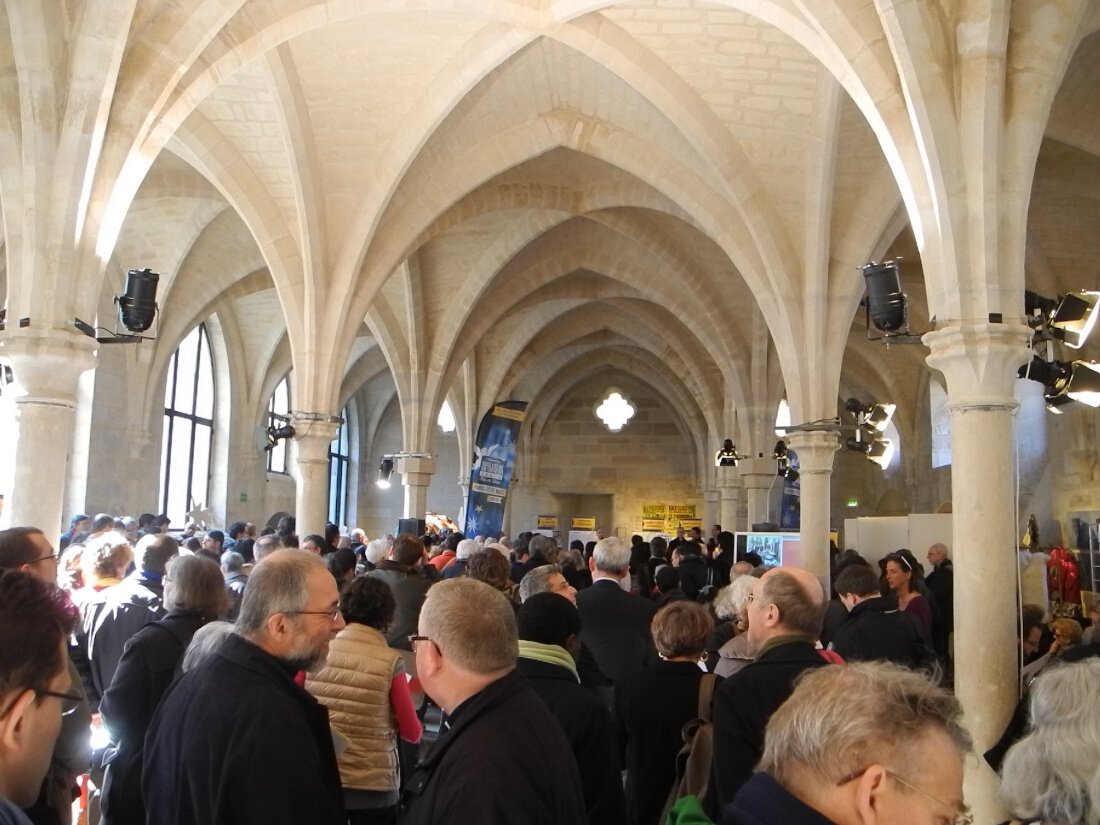
MULTIPOLYGON (((902 255, 927 329, 917 243, 822 63, 812 30, 836 9, 795 6, 139 3, 118 117, 150 96, 142 72, 164 91, 114 261, 166 274, 169 341, 231 304, 250 358, 308 378, 299 408, 388 370, 413 449, 447 396, 474 419, 609 365, 696 432, 759 438, 803 371, 833 398, 900 402, 912 427, 925 350, 866 341, 857 267, 902 255)), ((881 56, 875 10, 844 6, 848 45, 881 56)), ((1038 163, 1027 263, 1046 293, 1100 286, 1098 36, 1038 163)))

